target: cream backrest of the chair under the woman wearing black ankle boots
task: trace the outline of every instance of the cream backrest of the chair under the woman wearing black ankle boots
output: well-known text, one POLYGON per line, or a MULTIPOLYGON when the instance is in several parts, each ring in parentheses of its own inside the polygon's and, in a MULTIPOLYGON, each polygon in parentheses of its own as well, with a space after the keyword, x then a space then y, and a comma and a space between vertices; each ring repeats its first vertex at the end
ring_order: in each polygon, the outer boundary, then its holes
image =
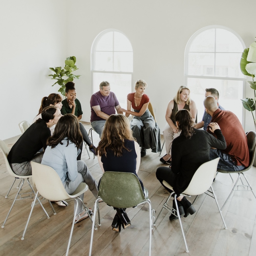
POLYGON ((200 195, 207 191, 216 176, 219 159, 218 157, 201 164, 183 193, 193 196, 200 195))

